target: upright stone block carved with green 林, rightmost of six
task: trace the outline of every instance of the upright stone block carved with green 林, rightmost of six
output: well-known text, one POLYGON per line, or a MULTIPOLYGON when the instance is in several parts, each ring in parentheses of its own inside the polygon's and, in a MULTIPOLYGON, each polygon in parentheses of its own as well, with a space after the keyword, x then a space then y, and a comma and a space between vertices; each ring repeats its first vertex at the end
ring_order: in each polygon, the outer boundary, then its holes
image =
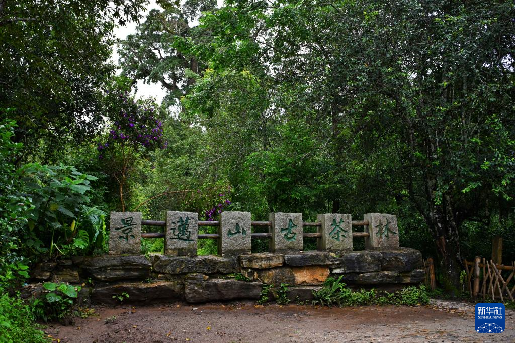
POLYGON ((399 247, 399 229, 397 217, 392 214, 367 213, 363 220, 368 220, 369 237, 365 238, 366 249, 394 249, 399 247))

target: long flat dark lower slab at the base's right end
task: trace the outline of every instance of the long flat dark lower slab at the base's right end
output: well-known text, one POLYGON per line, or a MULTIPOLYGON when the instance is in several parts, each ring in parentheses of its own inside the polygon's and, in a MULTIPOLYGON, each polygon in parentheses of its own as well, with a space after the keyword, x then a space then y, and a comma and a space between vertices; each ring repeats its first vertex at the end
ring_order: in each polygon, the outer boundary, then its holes
POLYGON ((418 283, 424 279, 424 270, 415 269, 408 273, 399 273, 393 270, 372 273, 342 274, 342 282, 357 284, 383 284, 383 283, 418 283))

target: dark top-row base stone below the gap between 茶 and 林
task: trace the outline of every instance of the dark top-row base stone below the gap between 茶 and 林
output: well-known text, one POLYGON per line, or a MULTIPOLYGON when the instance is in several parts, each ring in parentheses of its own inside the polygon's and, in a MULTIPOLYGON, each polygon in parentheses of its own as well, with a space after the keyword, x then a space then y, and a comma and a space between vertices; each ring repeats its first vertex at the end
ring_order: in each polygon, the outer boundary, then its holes
POLYGON ((333 273, 365 273, 381 270, 381 252, 365 250, 348 252, 341 257, 332 258, 329 267, 333 273))

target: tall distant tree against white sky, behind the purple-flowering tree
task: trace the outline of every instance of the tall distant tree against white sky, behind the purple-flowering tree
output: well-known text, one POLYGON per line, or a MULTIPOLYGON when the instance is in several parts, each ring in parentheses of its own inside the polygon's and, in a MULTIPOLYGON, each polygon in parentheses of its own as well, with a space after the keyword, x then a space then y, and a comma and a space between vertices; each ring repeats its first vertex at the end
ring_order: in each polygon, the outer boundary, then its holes
POLYGON ((215 9, 216 1, 187 0, 182 5, 168 1, 159 3, 163 10, 152 9, 137 32, 121 41, 119 62, 122 75, 132 80, 131 86, 139 80, 161 84, 168 92, 165 102, 180 106, 180 98, 189 92, 205 65, 192 54, 178 49, 174 41, 185 35, 202 41, 205 32, 190 26, 191 21, 201 15, 200 11, 215 9))

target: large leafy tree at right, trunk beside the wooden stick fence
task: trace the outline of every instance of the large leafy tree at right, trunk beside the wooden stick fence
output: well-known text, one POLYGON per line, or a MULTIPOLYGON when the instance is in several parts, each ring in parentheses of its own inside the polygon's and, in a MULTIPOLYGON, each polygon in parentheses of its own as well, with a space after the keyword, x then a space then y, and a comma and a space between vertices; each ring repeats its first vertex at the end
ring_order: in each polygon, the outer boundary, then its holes
MULTIPOLYGON (((249 70, 271 92, 264 111, 312 125, 333 211, 349 196, 413 205, 456 287, 460 228, 512 203, 513 5, 230 1, 202 19, 211 41, 176 44, 229 87, 249 70)), ((220 99, 205 85, 188 98, 220 99)))

